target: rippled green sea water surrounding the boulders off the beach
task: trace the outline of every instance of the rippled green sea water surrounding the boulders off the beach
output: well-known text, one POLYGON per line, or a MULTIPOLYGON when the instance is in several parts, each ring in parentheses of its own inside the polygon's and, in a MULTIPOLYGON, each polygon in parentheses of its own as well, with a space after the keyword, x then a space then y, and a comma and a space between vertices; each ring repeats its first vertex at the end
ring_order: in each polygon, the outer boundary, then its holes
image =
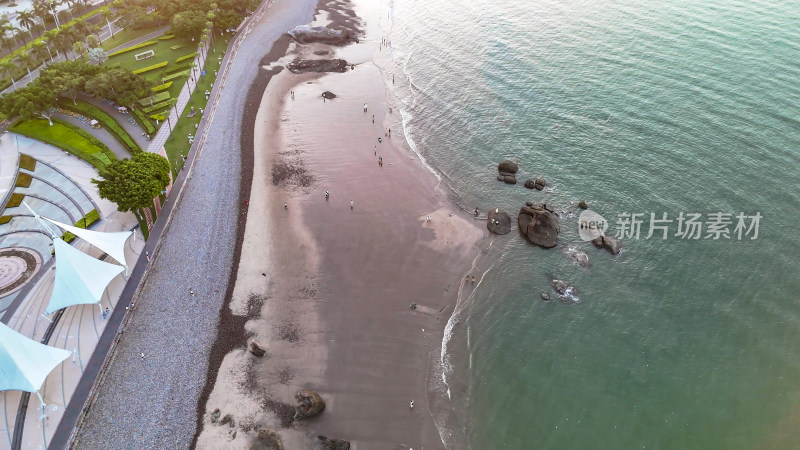
POLYGON ((557 248, 513 231, 478 260, 444 343, 449 447, 796 448, 800 2, 390 7, 405 132, 454 201, 562 219, 557 248), (494 179, 504 158, 520 184, 494 179), (538 176, 545 192, 521 186, 538 176), (639 238, 594 249, 578 200, 612 235, 643 214, 639 238), (650 213, 673 220, 666 239, 646 239, 650 213), (680 213, 701 214, 700 239, 676 236, 680 213), (706 237, 713 213, 730 238, 706 237), (736 236, 740 213, 761 216, 757 239, 736 236))

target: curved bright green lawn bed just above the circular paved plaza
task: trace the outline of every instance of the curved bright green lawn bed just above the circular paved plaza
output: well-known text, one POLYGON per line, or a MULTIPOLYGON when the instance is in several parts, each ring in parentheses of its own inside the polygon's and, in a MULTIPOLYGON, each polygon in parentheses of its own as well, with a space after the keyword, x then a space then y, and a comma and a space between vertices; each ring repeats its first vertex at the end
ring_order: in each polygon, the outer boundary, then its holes
POLYGON ((111 164, 111 161, 117 159, 114 153, 97 138, 63 120, 53 119, 52 126, 45 119, 18 121, 8 127, 8 130, 72 153, 98 170, 104 169, 111 164))

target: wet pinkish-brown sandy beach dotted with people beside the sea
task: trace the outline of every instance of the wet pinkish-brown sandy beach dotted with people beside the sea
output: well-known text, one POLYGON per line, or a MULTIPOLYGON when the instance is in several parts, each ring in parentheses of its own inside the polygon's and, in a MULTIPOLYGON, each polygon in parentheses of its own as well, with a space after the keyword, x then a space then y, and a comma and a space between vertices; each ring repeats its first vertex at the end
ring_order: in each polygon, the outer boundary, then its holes
POLYGON ((388 9, 366 3, 321 4, 310 24, 355 25, 359 43, 286 40, 271 52, 286 56, 264 61, 269 74, 297 57, 343 58, 354 69, 280 70, 255 116, 245 117, 243 143, 253 121, 252 184, 242 187, 247 222, 220 325, 244 330, 220 333, 234 349, 209 378, 200 448, 248 448, 262 428, 276 430, 286 448, 311 448, 317 435, 353 448, 443 448, 428 404, 430 361, 487 233, 408 150, 386 101, 391 75, 376 64, 389 57, 388 9), (324 91, 337 98, 324 101, 324 91), (245 338, 266 355, 248 353, 245 338), (299 389, 317 391, 325 411, 292 422, 299 389), (220 424, 226 415, 234 426, 220 424))

